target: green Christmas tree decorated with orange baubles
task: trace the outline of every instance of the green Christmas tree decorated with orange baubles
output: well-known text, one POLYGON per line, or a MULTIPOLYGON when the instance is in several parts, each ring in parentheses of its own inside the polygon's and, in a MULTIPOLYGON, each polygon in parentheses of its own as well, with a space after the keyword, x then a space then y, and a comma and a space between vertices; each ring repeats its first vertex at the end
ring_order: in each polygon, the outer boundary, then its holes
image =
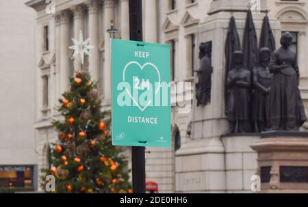
POLYGON ((64 120, 54 120, 59 139, 51 150, 56 193, 131 193, 125 156, 112 146, 110 113, 101 112, 97 83, 77 71, 60 99, 64 120))

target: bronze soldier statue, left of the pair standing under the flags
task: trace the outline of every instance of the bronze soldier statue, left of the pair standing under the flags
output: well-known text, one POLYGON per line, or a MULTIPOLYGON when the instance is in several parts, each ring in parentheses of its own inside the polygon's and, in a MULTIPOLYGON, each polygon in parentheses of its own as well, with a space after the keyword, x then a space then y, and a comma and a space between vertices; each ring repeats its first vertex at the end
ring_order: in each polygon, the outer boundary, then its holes
POLYGON ((251 72, 243 66, 242 51, 234 51, 232 56, 233 67, 227 77, 229 133, 249 133, 251 132, 249 115, 251 72))

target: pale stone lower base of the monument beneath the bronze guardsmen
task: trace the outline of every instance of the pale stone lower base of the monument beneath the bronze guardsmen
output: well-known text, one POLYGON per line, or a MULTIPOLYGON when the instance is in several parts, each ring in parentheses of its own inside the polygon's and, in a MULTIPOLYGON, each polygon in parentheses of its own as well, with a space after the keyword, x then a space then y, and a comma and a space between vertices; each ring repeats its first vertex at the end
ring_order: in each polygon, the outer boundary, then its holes
POLYGON ((177 193, 251 193, 259 134, 194 139, 176 152, 177 193))

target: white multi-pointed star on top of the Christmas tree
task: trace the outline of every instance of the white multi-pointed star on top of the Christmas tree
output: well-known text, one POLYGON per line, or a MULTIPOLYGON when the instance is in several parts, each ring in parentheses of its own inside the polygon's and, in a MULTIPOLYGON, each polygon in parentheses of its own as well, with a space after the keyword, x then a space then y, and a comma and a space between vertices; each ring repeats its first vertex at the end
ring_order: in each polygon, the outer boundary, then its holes
POLYGON ((90 56, 89 50, 94 49, 94 46, 89 45, 90 38, 84 41, 84 36, 82 35, 82 31, 79 32, 79 40, 75 40, 74 38, 72 38, 72 40, 74 42, 74 45, 68 48, 74 50, 73 57, 79 55, 81 59, 81 64, 84 65, 84 55, 90 56))

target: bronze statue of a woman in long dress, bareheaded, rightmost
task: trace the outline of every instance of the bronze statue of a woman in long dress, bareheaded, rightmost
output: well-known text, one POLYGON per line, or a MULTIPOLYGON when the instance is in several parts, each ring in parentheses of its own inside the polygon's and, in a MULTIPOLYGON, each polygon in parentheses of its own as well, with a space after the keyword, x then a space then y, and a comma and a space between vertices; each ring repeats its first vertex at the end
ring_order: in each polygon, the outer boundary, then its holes
POLYGON ((270 72, 270 129, 299 130, 306 121, 303 100, 298 89, 296 54, 290 50, 292 35, 283 33, 281 47, 272 53, 270 72))

